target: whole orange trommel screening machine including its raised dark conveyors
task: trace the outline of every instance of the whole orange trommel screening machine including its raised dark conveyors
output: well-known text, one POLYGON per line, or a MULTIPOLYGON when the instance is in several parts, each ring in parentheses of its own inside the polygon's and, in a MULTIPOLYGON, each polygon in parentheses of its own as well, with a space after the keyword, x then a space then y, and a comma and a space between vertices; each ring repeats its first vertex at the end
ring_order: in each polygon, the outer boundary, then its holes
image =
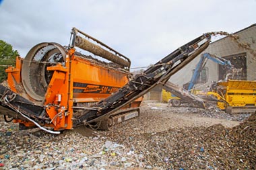
POLYGON ((135 118, 143 95, 207 48, 211 35, 195 38, 135 76, 129 58, 92 36, 73 28, 70 40, 69 46, 37 44, 6 70, 9 88, 0 85, 0 114, 6 122, 59 133, 83 124, 106 130, 135 118))

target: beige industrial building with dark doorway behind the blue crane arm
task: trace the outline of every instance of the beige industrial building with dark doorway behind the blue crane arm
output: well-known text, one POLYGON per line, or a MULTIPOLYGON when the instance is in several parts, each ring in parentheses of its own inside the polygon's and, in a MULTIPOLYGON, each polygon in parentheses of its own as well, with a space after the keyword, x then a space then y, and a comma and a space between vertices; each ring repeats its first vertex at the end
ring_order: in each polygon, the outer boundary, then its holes
MULTIPOLYGON (((240 69, 236 79, 240 80, 256 80, 256 24, 253 24, 243 30, 234 33, 238 39, 226 36, 212 42, 204 51, 230 60, 236 69, 240 69)), ((203 52, 203 53, 204 53, 203 52)), ((193 70, 201 55, 197 56, 186 67, 181 69, 170 78, 170 81, 176 85, 183 86, 191 80, 193 70)), ((222 65, 218 65, 212 60, 208 60, 205 67, 201 71, 199 80, 195 85, 195 89, 205 89, 212 81, 221 81, 225 79, 226 70, 222 65)))

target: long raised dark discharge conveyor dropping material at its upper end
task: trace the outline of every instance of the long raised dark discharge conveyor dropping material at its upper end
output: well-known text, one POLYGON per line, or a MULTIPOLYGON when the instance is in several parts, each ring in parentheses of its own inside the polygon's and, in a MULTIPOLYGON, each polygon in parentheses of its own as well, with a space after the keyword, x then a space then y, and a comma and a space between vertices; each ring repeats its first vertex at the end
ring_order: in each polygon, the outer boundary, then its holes
POLYGON ((102 120, 146 94, 156 85, 166 83, 171 75, 177 73, 177 71, 185 67, 187 63, 205 50, 210 44, 210 39, 210 34, 204 34, 168 54, 168 56, 162 58, 162 60, 144 71, 141 75, 136 75, 129 83, 121 87, 119 91, 94 105, 94 108, 98 108, 98 110, 84 111, 82 116, 73 120, 73 124, 77 126, 83 123, 102 120))

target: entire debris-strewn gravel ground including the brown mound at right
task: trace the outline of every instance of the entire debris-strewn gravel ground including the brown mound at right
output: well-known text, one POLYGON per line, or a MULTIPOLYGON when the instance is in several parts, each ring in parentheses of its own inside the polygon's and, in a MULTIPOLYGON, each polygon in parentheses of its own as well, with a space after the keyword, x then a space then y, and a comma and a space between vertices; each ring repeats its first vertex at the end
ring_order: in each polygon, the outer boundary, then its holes
POLYGON ((59 135, 1 120, 0 169, 254 169, 256 118, 249 116, 143 103, 139 118, 110 131, 59 135))

